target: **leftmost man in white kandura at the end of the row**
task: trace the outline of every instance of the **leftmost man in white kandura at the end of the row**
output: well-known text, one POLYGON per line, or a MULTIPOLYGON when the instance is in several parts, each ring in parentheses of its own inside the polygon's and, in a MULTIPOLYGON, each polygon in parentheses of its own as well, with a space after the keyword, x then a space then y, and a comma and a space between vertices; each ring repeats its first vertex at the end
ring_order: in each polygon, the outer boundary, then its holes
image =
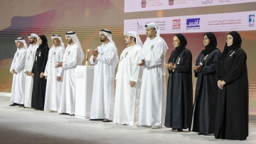
POLYGON ((23 38, 15 40, 17 51, 14 55, 14 60, 11 62, 10 72, 14 74, 13 83, 11 86, 11 104, 9 106, 24 106, 24 86, 25 74, 24 66, 26 60, 26 50, 28 46, 23 38))

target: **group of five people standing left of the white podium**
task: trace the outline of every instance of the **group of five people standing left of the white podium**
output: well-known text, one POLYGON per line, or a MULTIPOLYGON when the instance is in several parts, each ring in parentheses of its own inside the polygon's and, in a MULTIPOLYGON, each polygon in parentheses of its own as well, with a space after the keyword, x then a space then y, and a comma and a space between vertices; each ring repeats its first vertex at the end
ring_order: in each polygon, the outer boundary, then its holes
POLYGON ((66 33, 65 38, 66 49, 60 35, 51 36, 51 48, 45 35, 28 35, 31 44, 28 48, 23 38, 15 40, 17 52, 11 64, 14 84, 10 106, 75 114, 75 67, 82 65, 84 54, 74 32, 66 33), (19 55, 21 50, 25 52, 19 55))

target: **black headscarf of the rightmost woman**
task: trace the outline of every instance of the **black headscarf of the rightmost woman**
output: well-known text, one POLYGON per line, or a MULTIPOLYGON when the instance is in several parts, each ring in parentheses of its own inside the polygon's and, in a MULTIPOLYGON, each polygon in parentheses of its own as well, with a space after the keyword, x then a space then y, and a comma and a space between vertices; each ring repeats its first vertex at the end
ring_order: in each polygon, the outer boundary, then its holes
POLYGON ((231 31, 230 33, 228 33, 228 35, 231 35, 233 37, 233 44, 230 47, 228 47, 227 43, 225 43, 225 47, 223 52, 221 53, 220 60, 218 60, 217 76, 223 75, 223 62, 225 60, 225 56, 227 55, 227 53, 231 50, 241 48, 242 38, 240 34, 237 31, 231 31))

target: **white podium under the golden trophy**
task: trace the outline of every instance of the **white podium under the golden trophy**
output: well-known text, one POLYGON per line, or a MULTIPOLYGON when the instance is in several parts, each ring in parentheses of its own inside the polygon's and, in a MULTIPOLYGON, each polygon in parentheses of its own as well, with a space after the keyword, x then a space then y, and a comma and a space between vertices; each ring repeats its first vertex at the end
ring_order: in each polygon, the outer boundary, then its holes
POLYGON ((75 116, 76 118, 90 118, 92 102, 94 66, 78 65, 76 68, 75 84, 75 116))

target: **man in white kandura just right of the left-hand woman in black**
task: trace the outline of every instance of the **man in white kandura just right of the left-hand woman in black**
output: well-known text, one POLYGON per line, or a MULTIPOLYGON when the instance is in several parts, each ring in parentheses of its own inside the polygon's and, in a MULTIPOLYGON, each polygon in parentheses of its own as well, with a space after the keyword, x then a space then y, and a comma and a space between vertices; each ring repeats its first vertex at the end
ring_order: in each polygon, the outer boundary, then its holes
POLYGON ((63 69, 55 66, 63 61, 65 47, 60 35, 52 35, 51 39, 53 46, 49 50, 46 70, 43 74, 47 79, 44 111, 59 111, 63 69))

